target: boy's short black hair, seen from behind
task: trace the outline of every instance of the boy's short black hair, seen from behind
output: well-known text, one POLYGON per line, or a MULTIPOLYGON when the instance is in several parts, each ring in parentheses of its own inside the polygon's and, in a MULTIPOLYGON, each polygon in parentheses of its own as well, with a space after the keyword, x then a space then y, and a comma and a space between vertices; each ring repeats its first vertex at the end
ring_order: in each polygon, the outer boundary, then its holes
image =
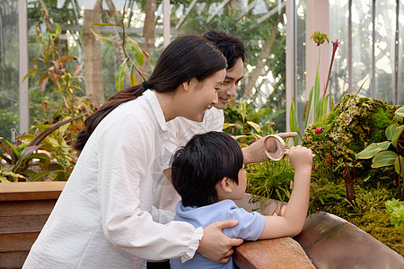
POLYGON ((172 185, 184 206, 204 206, 218 202, 216 184, 227 177, 239 184, 243 156, 240 145, 229 134, 196 134, 174 152, 172 185))

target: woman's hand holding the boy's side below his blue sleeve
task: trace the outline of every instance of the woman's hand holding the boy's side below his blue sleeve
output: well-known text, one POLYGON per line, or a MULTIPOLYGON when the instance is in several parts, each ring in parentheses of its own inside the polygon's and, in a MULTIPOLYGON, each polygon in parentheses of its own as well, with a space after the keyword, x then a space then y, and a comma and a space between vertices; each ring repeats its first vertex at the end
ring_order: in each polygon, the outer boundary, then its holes
POLYGON ((198 252, 209 260, 227 263, 233 255, 233 247, 240 246, 242 239, 230 239, 223 233, 225 228, 237 225, 238 221, 217 221, 205 227, 199 241, 198 252))

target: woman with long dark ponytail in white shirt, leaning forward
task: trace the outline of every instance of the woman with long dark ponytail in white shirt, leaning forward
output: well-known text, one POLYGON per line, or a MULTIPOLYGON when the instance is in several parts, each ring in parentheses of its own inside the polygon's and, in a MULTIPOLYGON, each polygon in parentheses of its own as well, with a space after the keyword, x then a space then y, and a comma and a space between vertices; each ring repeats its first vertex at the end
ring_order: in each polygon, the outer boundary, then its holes
POLYGON ((75 144, 80 158, 23 268, 145 268, 145 259, 186 261, 197 249, 228 261, 242 240, 221 230, 236 221, 195 229, 152 206, 166 122, 200 121, 217 102, 225 67, 206 39, 176 39, 147 82, 119 91, 88 117, 75 144))

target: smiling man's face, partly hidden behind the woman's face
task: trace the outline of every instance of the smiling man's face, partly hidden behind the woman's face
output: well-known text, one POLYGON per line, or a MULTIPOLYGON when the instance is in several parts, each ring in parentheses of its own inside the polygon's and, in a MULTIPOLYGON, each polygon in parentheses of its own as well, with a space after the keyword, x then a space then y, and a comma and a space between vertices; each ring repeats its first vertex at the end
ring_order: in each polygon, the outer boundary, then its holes
POLYGON ((220 86, 220 90, 217 91, 219 100, 215 104, 215 108, 224 109, 229 102, 229 99, 235 96, 236 91, 239 88, 239 82, 242 80, 243 71, 242 58, 238 58, 236 64, 232 68, 226 70, 224 82, 220 86))

